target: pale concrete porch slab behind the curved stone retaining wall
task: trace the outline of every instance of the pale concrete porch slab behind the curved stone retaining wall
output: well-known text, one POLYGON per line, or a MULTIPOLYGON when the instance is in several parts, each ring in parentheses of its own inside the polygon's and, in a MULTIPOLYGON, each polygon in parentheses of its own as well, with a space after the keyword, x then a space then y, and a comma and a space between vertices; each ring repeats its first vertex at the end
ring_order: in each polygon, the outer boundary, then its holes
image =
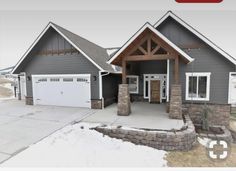
POLYGON ((131 104, 131 110, 130 116, 117 116, 117 105, 113 104, 83 121, 162 130, 180 129, 184 126, 183 120, 169 119, 165 104, 135 102, 131 104))

